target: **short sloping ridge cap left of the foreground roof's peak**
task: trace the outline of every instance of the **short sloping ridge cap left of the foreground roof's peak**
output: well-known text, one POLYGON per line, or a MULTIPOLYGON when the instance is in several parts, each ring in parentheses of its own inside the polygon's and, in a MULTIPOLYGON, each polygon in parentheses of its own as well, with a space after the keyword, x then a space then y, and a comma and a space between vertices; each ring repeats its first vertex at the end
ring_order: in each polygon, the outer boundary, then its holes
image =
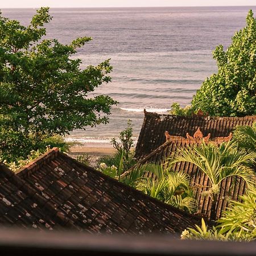
POLYGON ((26 164, 26 166, 21 167, 16 172, 16 175, 22 178, 31 175, 32 172, 37 171, 44 163, 47 163, 50 160, 55 159, 59 152, 59 148, 53 147, 51 150, 48 150, 43 155, 26 164))

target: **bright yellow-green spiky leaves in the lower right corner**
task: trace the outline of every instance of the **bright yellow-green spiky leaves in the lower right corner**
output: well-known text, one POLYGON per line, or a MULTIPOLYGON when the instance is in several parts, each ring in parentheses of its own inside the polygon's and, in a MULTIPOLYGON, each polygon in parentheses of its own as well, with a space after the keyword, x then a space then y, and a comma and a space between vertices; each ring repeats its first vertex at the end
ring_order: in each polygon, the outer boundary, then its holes
POLYGON ((242 203, 233 201, 218 225, 208 229, 202 219, 201 228, 184 230, 181 238, 196 240, 253 241, 256 240, 256 193, 241 196, 242 203))

